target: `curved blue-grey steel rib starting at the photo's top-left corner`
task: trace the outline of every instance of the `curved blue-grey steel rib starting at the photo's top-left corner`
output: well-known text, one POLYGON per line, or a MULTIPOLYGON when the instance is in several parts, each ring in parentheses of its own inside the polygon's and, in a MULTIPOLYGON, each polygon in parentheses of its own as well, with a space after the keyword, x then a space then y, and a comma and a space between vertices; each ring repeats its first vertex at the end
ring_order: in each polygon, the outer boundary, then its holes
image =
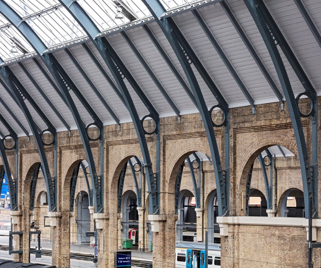
MULTIPOLYGON (((93 154, 89 144, 89 137, 84 125, 84 122, 81 120, 79 112, 76 108, 76 105, 69 93, 69 90, 72 89, 75 94, 80 97, 80 101, 86 107, 90 115, 94 118, 95 122, 100 130, 101 134, 101 155, 103 155, 103 125, 99 117, 96 115, 95 111, 91 108, 86 99, 81 97, 78 88, 70 79, 68 74, 65 72, 63 67, 60 65, 56 57, 52 53, 43 54, 47 47, 44 42, 40 39, 40 37, 34 32, 31 26, 24 21, 18 13, 13 10, 13 8, 8 5, 4 0, 0 0, 0 12, 22 33, 22 35, 30 42, 33 48, 36 50, 38 55, 42 58, 43 62, 46 64, 47 68, 53 75, 56 82, 59 84, 63 98, 67 103, 69 109, 71 110, 74 119, 76 121, 80 137, 82 139, 85 153, 87 156, 87 160, 89 163, 89 169, 93 184, 93 194, 95 196, 95 210, 97 212, 103 211, 103 191, 101 188, 103 187, 103 169, 101 168, 101 174, 97 175, 96 166, 93 158, 93 154)), ((57 92, 59 92, 57 91, 57 92)), ((35 135, 35 133, 34 133, 35 135)), ((103 159, 101 159, 101 165, 103 163, 103 159)))

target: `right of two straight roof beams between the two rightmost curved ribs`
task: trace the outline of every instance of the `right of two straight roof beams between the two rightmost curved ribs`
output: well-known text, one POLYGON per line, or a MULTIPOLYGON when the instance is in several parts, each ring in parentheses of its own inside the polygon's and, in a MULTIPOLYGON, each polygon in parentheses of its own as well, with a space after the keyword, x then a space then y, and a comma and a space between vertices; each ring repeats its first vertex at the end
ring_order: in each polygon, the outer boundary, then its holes
POLYGON ((279 88, 277 87, 276 83, 274 82, 274 80, 273 80, 272 76, 270 75, 270 73, 268 72, 267 68, 265 67, 262 59, 260 58, 260 56, 256 52, 254 46, 252 45, 251 41, 249 40, 249 38, 245 34, 242 26, 238 22, 237 18, 235 17, 235 15, 234 15, 233 11, 231 10, 231 8, 229 7, 228 3, 223 0, 223 1, 220 2, 220 4, 222 5, 222 7, 223 7, 224 11, 226 12, 226 14, 228 15, 228 17, 230 18, 230 20, 231 20, 232 24, 234 25, 235 29, 237 30, 238 34, 242 38, 244 44, 246 45, 247 49, 251 53, 251 55, 254 58, 256 64, 259 66, 259 68, 262 71, 264 77, 266 78, 266 80, 270 84, 273 92, 275 93, 275 95, 277 96, 279 101, 281 102, 281 108, 283 109, 284 108, 284 104, 283 104, 282 93, 279 90, 279 88))

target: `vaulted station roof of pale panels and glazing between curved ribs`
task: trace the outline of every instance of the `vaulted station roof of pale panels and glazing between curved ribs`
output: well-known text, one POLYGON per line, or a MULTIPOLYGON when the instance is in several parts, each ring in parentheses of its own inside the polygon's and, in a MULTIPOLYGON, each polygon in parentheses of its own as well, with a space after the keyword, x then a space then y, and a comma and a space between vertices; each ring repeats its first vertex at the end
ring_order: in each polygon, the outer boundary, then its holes
MULTIPOLYGON (((93 20, 99 34, 128 68, 161 117, 198 112, 191 99, 188 79, 162 29, 140 0, 75 0, 93 20), (120 8, 120 9, 117 9, 120 8), (117 11, 118 10, 118 11, 117 11), (123 18, 115 18, 116 15, 123 18)), ((70 0, 70 3, 73 1, 70 0)), ((280 102, 282 88, 259 30, 243 0, 160 0, 187 43, 217 85, 229 107, 280 102)), ((131 121, 117 94, 117 83, 86 31, 58 0, 3 0, 37 33, 80 93, 104 124, 131 121)), ((321 2, 319 0, 264 0, 312 85, 321 93, 321 2), (303 8, 302 8, 303 6, 303 8), (310 26, 312 23, 314 27, 310 26)), ((1 66, 9 66, 28 91, 26 104, 39 126, 47 129, 44 112, 58 131, 76 123, 59 86, 31 43, 5 15, 0 15, 1 66), (32 103, 34 102, 34 103, 32 103)), ((295 95, 304 91, 287 58, 279 49, 295 95)), ((218 104, 206 81, 192 64, 208 108, 218 104)), ((31 134, 28 120, 11 89, 0 79, 0 114, 18 135, 31 134)), ((124 79, 138 115, 148 109, 124 79)), ((79 100, 71 96, 85 124, 93 122, 79 100)), ((0 122, 1 135, 9 134, 0 122)))

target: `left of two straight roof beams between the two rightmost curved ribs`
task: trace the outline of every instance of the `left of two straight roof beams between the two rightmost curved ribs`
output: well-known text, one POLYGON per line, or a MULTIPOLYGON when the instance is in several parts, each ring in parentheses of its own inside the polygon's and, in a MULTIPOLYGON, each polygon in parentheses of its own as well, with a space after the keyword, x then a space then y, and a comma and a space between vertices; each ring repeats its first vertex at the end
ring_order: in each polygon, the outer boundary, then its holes
POLYGON ((247 101, 250 103, 252 108, 255 110, 253 97, 251 96, 248 88, 246 87, 246 85, 242 81, 241 77, 239 76, 239 74, 235 70, 235 68, 232 65, 231 61, 228 59, 228 57, 225 54, 224 50, 222 49, 221 45, 216 40, 213 32, 210 30, 210 28, 208 27, 208 25, 206 24, 206 22, 204 21, 204 19, 202 18, 201 14, 199 13, 199 11, 197 9, 194 9, 192 12, 193 12, 195 18, 197 19, 197 21, 199 22, 199 24, 201 25, 202 29, 204 30, 205 34, 207 35, 207 37, 211 41, 212 45, 215 47, 217 53, 219 54, 219 56, 223 60, 224 64, 226 65, 226 67, 228 68, 228 70, 230 71, 232 76, 234 77, 235 81, 237 82, 237 84, 241 88, 241 90, 242 90, 243 94, 245 95, 247 101))

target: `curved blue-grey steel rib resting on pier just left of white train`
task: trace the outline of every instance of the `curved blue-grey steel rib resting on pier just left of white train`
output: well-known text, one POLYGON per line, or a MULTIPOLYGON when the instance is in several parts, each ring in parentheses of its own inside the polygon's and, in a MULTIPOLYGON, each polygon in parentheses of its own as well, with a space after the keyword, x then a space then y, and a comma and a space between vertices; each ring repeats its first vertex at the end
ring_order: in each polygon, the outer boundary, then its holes
POLYGON ((138 83, 135 81, 135 79, 132 77, 131 73, 128 71, 125 64, 121 61, 120 57, 117 55, 117 53, 114 51, 110 43, 107 41, 105 37, 97 38, 97 34, 100 33, 97 26, 94 24, 94 22, 91 20, 91 18, 86 14, 86 12, 83 10, 83 8, 79 5, 76 1, 70 1, 70 0, 59 0, 71 13, 71 15, 77 20, 77 22, 82 26, 82 28, 86 31, 92 42, 95 44, 98 52, 101 54, 102 58, 106 62, 109 70, 111 71, 118 89, 120 90, 125 105, 130 113, 131 119, 133 121, 140 149, 142 152, 143 160, 144 160, 144 168, 146 170, 146 176, 147 176, 147 186, 149 191, 149 212, 152 214, 159 213, 159 191, 157 190, 159 188, 159 150, 160 150, 160 139, 159 139, 159 116, 153 105, 150 103, 148 98, 145 96, 144 92, 139 87, 138 83), (128 80, 128 82, 131 84, 141 101, 144 103, 144 105, 147 107, 149 111, 149 116, 153 117, 154 123, 156 125, 156 172, 154 173, 152 170, 152 163, 149 155, 149 150, 145 138, 145 131, 142 126, 142 122, 139 119, 137 110, 135 108, 135 105, 132 101, 131 95, 128 91, 128 88, 124 82, 124 78, 128 80))

